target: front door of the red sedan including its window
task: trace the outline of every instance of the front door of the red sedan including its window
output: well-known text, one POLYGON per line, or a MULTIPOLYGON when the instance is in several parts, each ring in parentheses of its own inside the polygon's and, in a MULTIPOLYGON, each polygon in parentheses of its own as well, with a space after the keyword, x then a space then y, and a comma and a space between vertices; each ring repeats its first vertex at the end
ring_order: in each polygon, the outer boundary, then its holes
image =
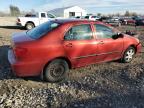
POLYGON ((104 62, 119 59, 124 46, 123 38, 114 39, 116 32, 111 27, 102 24, 94 24, 94 27, 98 42, 97 60, 104 62))

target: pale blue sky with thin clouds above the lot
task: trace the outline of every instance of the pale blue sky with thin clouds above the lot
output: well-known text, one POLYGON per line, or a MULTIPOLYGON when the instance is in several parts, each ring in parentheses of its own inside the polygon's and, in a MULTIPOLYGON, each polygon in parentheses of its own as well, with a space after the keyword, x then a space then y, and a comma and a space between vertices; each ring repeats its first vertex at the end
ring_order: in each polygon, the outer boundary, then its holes
POLYGON ((124 13, 125 11, 144 14, 144 0, 0 0, 0 11, 9 12, 15 5, 21 11, 49 11, 55 8, 80 6, 88 13, 124 13))

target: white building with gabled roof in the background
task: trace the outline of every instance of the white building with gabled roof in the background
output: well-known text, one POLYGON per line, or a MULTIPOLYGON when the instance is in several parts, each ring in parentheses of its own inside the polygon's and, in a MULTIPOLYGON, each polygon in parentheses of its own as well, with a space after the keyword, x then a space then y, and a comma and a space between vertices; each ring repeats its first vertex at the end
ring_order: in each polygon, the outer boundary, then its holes
POLYGON ((87 14, 86 10, 80 8, 79 6, 57 8, 48 11, 48 13, 54 14, 56 17, 64 17, 64 18, 85 16, 87 14))

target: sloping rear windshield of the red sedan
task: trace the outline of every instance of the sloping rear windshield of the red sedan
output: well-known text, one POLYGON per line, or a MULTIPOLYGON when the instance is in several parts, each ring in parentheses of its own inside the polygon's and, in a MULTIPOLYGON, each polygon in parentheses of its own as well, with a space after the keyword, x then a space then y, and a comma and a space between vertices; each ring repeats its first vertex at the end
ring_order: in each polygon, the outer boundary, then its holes
POLYGON ((30 36, 32 39, 39 39, 46 33, 52 31, 53 29, 57 28, 60 24, 52 21, 48 21, 46 23, 43 23, 29 31, 27 31, 28 36, 30 36))

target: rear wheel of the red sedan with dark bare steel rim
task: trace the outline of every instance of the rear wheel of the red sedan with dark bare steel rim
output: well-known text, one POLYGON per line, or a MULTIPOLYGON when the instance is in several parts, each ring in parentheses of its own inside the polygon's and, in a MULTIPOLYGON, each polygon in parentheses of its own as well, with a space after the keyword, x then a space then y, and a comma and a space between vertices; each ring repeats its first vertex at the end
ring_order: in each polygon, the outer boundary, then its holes
POLYGON ((66 78, 69 66, 65 60, 55 59, 44 69, 44 80, 49 82, 59 82, 66 78))

